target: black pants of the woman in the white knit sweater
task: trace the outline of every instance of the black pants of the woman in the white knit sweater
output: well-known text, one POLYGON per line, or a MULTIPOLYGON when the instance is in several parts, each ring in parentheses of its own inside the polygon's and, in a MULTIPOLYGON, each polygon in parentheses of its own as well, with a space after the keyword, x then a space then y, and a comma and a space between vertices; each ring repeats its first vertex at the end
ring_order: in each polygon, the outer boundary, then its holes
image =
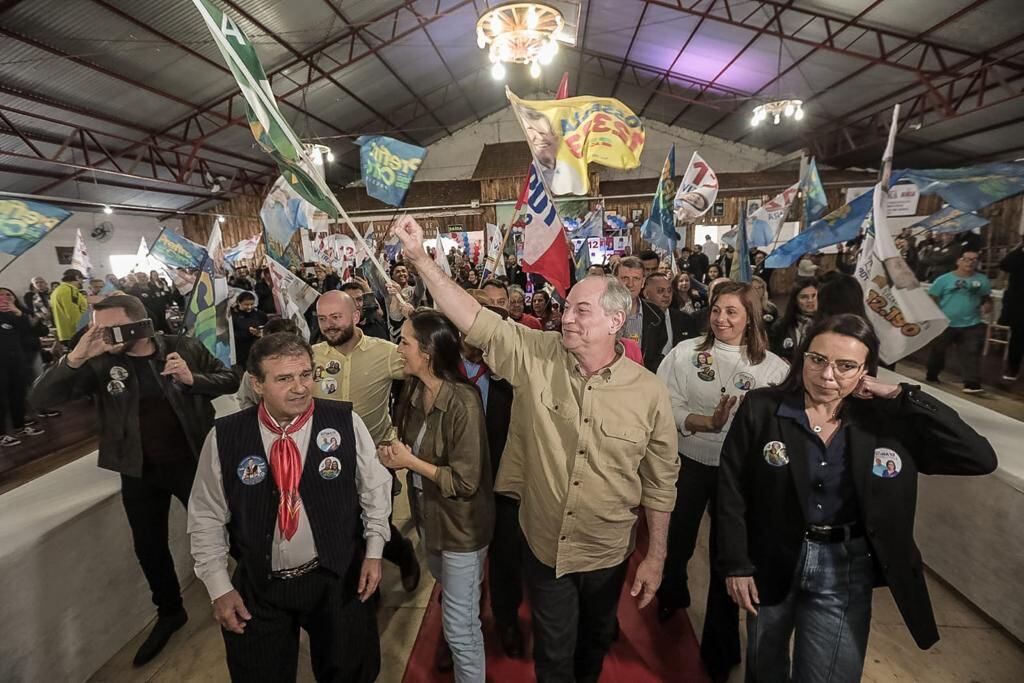
POLYGON ((708 584, 708 608, 700 637, 700 657, 708 672, 726 673, 739 664, 739 609, 725 590, 725 577, 715 569, 718 550, 718 514, 715 511, 718 468, 702 465, 680 456, 682 467, 676 481, 676 508, 669 522, 669 550, 665 560, 665 578, 657 591, 658 603, 673 607, 689 605, 686 564, 693 556, 697 532, 705 509, 711 514, 708 584))

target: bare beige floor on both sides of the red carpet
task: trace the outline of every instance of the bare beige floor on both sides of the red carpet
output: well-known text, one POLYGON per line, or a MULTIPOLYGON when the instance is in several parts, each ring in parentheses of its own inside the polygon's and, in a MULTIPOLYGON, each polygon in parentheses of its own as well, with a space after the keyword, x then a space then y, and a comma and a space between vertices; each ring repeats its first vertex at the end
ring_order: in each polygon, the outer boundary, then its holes
MULTIPOLYGON (((396 499, 395 523, 407 536, 415 539, 404 496, 396 499)), ((689 610, 689 616, 694 631, 699 634, 708 592, 707 518, 690 565, 690 577, 694 607, 689 610)), ((928 651, 918 649, 889 591, 877 590, 863 680, 871 683, 1020 681, 1021 672, 1024 672, 1024 645, 990 623, 942 582, 931 574, 928 579, 942 640, 928 651)), ((382 649, 381 683, 398 683, 401 680, 432 587, 433 581, 424 566, 419 589, 414 594, 406 594, 401 590, 397 569, 384 563, 382 605, 378 613, 382 649)), ((90 680, 97 683, 226 681, 223 641, 219 627, 210 614, 206 590, 200 582, 194 581, 186 589, 185 606, 189 614, 188 624, 175 634, 156 660, 141 669, 132 669, 132 656, 144 636, 139 634, 90 680)), ((740 635, 745 646, 745 638, 742 633, 740 635)), ((739 683, 742 678, 741 670, 736 669, 729 680, 730 683, 739 683)), ((298 680, 313 680, 305 646, 300 656, 298 680)))

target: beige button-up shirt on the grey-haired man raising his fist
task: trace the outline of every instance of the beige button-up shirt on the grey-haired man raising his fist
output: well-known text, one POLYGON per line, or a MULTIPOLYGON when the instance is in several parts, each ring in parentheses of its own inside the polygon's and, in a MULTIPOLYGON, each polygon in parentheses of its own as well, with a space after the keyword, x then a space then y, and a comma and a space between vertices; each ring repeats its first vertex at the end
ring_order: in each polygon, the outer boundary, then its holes
POLYGON ((679 474, 669 392, 622 354, 585 377, 561 337, 482 309, 466 341, 516 388, 495 490, 520 501, 530 550, 555 575, 614 566, 638 507, 671 512, 679 474))

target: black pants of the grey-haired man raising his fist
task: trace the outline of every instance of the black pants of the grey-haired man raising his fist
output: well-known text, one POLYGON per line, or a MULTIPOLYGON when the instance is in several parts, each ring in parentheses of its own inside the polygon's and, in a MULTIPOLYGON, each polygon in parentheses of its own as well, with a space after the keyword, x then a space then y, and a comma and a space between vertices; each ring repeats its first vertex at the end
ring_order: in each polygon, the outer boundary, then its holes
POLYGON ((555 578, 523 543, 538 683, 597 683, 615 635, 626 562, 555 578))

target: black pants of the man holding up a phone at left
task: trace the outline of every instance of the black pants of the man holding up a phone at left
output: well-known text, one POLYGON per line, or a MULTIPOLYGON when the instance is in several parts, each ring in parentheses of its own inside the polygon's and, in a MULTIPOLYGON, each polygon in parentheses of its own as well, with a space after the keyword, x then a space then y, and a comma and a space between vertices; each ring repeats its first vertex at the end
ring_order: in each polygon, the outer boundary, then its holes
POLYGON ((153 592, 153 603, 161 616, 179 611, 181 587, 168 547, 167 517, 171 497, 188 508, 188 495, 196 478, 191 460, 161 465, 146 464, 141 477, 121 475, 121 502, 131 526, 135 557, 153 592))

